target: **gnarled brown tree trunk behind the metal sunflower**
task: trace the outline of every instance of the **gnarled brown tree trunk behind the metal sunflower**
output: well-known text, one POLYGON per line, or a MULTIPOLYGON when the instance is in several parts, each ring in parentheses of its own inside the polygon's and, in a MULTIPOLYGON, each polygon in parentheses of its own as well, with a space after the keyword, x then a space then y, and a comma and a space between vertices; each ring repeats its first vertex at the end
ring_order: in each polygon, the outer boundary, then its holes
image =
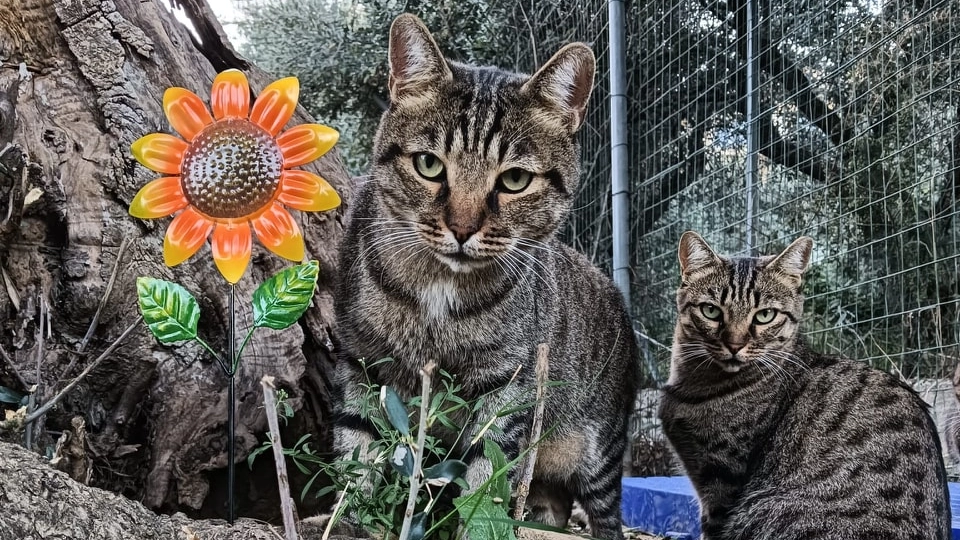
MULTIPOLYGON (((0 386, 27 393, 36 385, 32 410, 136 320, 138 276, 184 285, 199 300, 201 336, 226 349, 228 289, 209 248, 168 269, 161 250, 169 219, 127 214, 137 190, 158 176, 134 161, 130 144, 147 133, 170 132, 161 108, 167 87, 206 99, 214 75, 229 67, 243 70, 255 92, 272 78, 237 56, 204 0, 180 2, 199 37, 160 2, 0 2, 0 386)), ((312 120, 301 109, 294 121, 312 120)), ((351 200, 335 150, 307 168, 330 181, 345 204, 351 200)), ((270 460, 253 471, 245 465, 266 430, 262 375, 276 377, 291 396, 297 418, 289 436, 312 432, 315 447, 329 448, 326 374, 342 211, 297 216, 308 257, 321 264, 314 304, 299 326, 258 330, 242 359, 240 515, 270 519, 277 508, 270 460)), ((255 243, 249 273, 237 285, 239 331, 249 325, 255 286, 287 265, 255 243)), ((82 417, 92 485, 154 510, 223 516, 226 382, 200 347, 160 345, 141 325, 18 442, 48 452, 59 432, 82 417)), ((152 519, 151 526, 177 523, 152 519)))

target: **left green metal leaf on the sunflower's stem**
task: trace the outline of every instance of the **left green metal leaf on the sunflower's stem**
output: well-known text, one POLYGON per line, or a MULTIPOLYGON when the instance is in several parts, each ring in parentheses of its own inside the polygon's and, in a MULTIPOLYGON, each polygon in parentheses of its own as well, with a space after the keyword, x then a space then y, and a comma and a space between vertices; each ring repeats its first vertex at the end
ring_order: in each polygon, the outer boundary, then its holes
POLYGON ((160 343, 197 337, 200 306, 183 286, 162 279, 139 277, 137 302, 143 321, 160 343))

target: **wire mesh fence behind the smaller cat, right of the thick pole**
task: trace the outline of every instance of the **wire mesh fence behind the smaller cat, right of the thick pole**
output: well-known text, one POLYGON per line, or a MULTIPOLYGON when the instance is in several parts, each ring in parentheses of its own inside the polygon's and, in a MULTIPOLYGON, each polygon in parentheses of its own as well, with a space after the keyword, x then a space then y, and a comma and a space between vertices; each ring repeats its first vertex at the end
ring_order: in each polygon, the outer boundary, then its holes
MULTIPOLYGON (((912 381, 943 422, 955 399, 937 380, 960 354, 960 3, 757 4, 752 120, 746 0, 631 7, 636 320, 670 342, 684 230, 732 254, 809 235, 807 338, 912 381)), ((662 380, 669 354, 648 350, 662 380)))

